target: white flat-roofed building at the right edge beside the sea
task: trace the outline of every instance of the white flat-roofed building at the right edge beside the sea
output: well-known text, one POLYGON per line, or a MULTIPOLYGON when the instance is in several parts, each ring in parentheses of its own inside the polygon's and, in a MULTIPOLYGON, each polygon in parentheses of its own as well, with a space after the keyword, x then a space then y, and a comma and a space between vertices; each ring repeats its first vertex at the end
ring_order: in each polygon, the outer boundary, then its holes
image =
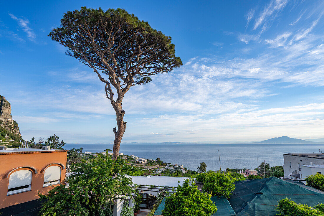
POLYGON ((284 178, 304 180, 307 176, 324 174, 324 153, 284 154, 284 178))

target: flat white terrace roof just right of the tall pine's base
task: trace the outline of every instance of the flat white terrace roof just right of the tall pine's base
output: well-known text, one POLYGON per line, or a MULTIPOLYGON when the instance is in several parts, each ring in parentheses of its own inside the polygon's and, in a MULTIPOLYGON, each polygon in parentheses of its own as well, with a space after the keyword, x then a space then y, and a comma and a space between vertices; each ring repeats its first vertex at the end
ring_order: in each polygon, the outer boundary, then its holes
POLYGON ((190 178, 183 177, 169 177, 169 176, 133 176, 127 175, 127 177, 132 177, 132 181, 137 185, 154 185, 154 186, 168 186, 177 187, 183 184, 183 181, 190 178), (180 182, 180 183, 179 183, 180 182))

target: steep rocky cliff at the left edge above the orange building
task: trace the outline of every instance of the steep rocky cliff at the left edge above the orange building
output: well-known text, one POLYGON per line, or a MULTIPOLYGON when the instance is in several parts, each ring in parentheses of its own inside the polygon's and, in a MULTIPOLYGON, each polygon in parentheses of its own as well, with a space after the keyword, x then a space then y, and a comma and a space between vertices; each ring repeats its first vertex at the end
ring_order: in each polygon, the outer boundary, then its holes
POLYGON ((10 103, 0 95, 0 127, 21 138, 18 124, 11 116, 10 103))

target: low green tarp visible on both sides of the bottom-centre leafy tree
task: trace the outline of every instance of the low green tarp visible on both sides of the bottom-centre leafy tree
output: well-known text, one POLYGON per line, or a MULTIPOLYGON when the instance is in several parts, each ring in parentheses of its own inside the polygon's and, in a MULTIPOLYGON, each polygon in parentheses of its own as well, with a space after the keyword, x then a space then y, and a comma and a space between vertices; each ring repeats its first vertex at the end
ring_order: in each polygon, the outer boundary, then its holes
MULTIPOLYGON (((233 215, 236 215, 226 198, 211 197, 210 199, 215 203, 215 205, 217 207, 216 213, 213 214, 212 216, 233 216, 233 215)), ((155 210, 155 212, 154 212, 155 215, 162 215, 162 211, 164 209, 164 201, 165 201, 165 198, 163 198, 161 204, 155 210)))

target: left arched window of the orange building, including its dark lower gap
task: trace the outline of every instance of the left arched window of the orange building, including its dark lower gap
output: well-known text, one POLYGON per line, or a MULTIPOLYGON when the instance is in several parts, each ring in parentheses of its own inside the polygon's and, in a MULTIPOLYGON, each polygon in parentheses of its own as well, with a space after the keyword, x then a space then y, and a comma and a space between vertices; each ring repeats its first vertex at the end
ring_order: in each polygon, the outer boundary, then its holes
POLYGON ((30 170, 18 170, 9 176, 8 195, 30 190, 31 176, 30 170))

